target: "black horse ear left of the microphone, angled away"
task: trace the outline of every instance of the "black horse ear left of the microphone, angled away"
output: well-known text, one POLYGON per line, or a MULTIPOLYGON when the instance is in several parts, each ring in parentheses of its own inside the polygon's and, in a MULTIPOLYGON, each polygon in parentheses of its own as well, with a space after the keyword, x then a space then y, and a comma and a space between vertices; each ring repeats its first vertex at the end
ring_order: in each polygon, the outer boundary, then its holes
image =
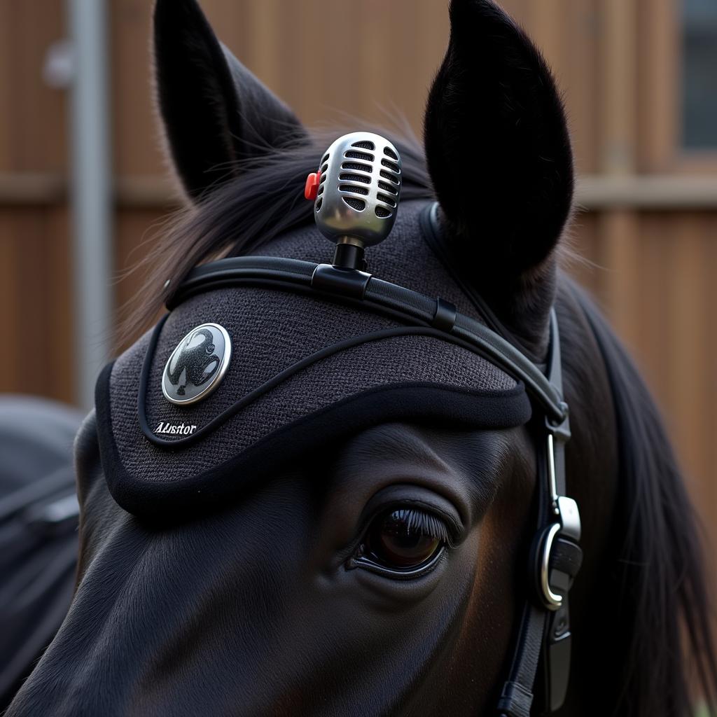
POLYGON ((195 201, 242 162, 306 136, 294 113, 219 42, 196 0, 157 0, 154 64, 169 153, 195 201))

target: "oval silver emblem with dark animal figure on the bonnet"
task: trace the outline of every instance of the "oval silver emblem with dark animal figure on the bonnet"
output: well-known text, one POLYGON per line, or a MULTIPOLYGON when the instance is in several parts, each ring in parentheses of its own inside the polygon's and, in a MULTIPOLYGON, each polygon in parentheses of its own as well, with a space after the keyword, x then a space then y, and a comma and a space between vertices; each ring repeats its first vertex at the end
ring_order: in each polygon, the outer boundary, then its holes
POLYGON ((232 341, 223 326, 203 323, 172 351, 162 374, 162 393, 184 406, 205 399, 222 383, 232 358, 232 341))

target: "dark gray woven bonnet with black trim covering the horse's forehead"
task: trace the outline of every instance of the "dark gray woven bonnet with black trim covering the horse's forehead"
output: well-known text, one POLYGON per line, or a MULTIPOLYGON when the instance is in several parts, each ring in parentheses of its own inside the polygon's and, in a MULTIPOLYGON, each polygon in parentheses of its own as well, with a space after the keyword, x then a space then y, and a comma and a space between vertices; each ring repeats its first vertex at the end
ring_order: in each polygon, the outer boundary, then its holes
MULTIPOLYGON (((371 250, 370 270, 476 316, 422 237, 425 209, 424 202, 402 205, 394 232, 371 250)), ((327 262, 331 246, 310 227, 262 255, 327 262)), ((505 428, 531 415, 523 384, 466 348, 391 316, 251 285, 200 291, 180 303, 105 368, 96 404, 110 491, 126 510, 153 516, 217 503, 372 425, 505 428), (196 331, 204 325, 210 328, 196 331), (212 325, 229 339, 223 367, 227 347, 212 325), (178 361, 183 341, 189 358, 178 361), (163 382, 179 400, 215 385, 177 404, 163 382)))

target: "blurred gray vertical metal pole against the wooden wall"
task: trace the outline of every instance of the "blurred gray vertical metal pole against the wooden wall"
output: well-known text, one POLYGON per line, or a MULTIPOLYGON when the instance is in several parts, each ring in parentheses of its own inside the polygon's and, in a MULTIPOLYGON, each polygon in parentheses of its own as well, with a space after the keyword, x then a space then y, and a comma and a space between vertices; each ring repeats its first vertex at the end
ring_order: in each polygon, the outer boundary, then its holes
POLYGON ((67 0, 72 40, 75 399, 89 409, 112 342, 112 170, 105 0, 67 0))

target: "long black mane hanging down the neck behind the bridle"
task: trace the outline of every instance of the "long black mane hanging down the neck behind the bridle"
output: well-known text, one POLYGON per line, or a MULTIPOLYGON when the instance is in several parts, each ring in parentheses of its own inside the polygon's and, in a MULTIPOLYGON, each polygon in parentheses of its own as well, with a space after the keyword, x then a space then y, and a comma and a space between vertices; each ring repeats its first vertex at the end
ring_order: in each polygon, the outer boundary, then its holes
POLYGON ((585 668, 614 670, 606 687, 615 715, 688 716, 695 688, 713 710, 717 662, 698 518, 650 392, 602 315, 576 293, 607 369, 619 450, 612 546, 594 615, 603 645, 585 668))

